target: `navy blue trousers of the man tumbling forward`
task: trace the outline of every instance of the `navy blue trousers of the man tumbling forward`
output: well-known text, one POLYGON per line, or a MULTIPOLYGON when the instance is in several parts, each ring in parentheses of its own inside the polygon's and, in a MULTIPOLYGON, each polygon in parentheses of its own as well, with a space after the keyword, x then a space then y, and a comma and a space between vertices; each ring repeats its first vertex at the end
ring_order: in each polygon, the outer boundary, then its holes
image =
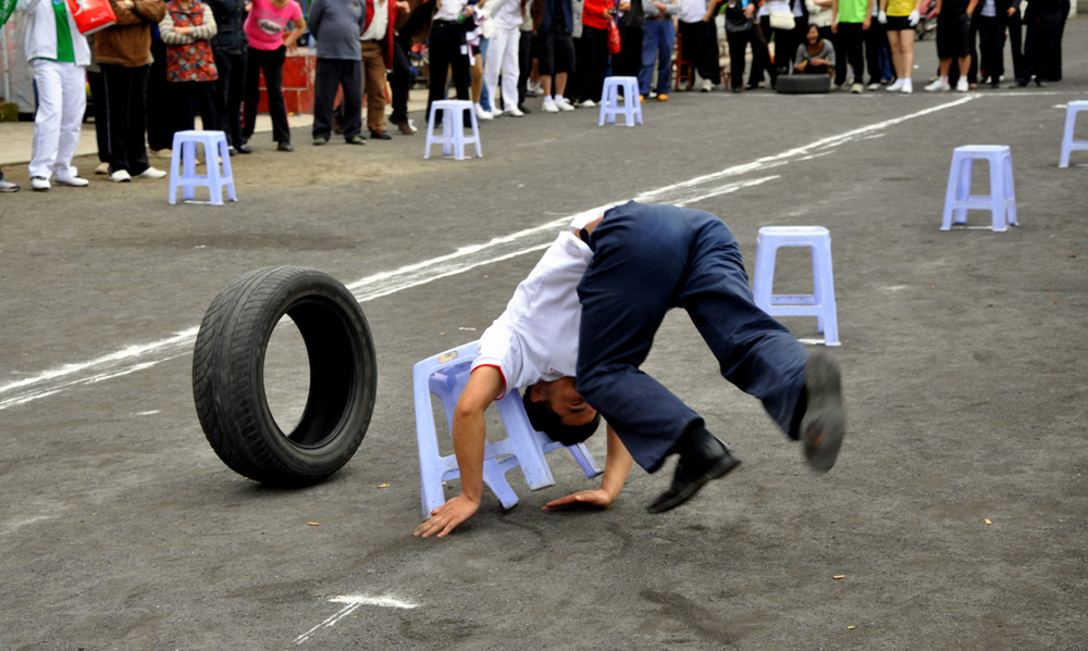
POLYGON ((688 311, 721 375, 762 400, 790 434, 808 351, 756 306, 737 239, 721 220, 632 201, 605 213, 590 248, 593 260, 578 285, 578 390, 639 465, 659 468, 683 433, 703 422, 639 370, 671 308, 688 311))

